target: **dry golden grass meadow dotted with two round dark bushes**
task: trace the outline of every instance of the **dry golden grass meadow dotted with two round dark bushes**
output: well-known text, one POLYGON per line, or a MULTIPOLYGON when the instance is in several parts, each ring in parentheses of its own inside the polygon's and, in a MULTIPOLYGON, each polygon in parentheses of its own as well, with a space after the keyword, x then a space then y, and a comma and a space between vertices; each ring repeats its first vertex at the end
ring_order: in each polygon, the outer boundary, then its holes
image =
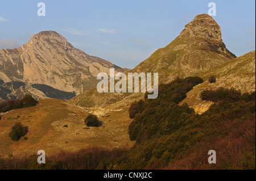
POLYGON ((2 115, 0 155, 30 155, 36 154, 38 150, 44 150, 49 155, 61 150, 76 151, 87 146, 130 147, 133 145, 128 134, 130 122, 127 110, 86 110, 59 99, 39 100, 35 107, 12 110, 2 115), (89 112, 100 115, 102 127, 86 128, 84 119, 89 112), (12 141, 9 137, 11 127, 17 122, 28 126, 27 140, 22 137, 19 141, 12 141))

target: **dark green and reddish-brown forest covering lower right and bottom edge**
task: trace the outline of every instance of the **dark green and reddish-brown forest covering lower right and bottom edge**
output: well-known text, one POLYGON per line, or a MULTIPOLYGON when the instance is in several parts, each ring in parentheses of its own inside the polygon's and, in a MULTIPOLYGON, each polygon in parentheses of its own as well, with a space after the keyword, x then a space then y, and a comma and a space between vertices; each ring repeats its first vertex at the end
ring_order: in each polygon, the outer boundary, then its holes
POLYGON ((177 78, 159 85, 158 98, 146 99, 146 93, 132 103, 131 149, 60 153, 44 165, 36 163, 37 155, 0 159, 0 169, 255 169, 255 92, 204 90, 201 99, 214 104, 199 115, 179 103, 201 82, 177 78), (216 164, 208 163, 209 150, 216 151, 216 164))

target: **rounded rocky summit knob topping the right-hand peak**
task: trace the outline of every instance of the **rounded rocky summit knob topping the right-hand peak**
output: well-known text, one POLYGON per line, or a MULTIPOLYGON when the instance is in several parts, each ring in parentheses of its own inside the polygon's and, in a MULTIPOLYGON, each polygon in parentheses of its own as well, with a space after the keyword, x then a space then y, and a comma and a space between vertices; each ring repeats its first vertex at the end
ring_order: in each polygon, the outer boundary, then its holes
POLYGON ((221 40, 221 28, 208 14, 197 15, 180 33, 182 37, 201 37, 203 39, 221 40))

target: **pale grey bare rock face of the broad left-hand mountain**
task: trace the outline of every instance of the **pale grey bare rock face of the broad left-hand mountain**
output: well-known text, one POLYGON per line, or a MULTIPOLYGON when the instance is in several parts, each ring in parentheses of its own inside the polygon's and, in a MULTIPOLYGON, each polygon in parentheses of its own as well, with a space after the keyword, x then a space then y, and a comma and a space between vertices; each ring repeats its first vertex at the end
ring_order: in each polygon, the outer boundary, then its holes
MULTIPOLYGON (((42 84, 60 91, 80 94, 96 87, 97 74, 109 73, 109 68, 124 71, 109 61, 89 56, 73 47, 55 31, 39 32, 19 48, 0 50, 0 79, 4 82, 26 83, 23 90, 19 90, 30 92, 39 99, 51 96, 44 95, 44 91, 42 96, 29 86, 42 84)), ((19 97, 16 91, 11 91, 10 95, 19 97)))

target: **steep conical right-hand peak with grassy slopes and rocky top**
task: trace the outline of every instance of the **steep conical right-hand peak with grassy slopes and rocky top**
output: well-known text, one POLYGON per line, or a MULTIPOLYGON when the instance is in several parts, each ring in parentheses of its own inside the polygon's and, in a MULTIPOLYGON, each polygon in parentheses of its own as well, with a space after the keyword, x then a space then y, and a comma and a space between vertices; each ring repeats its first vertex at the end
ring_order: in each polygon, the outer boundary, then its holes
POLYGON ((197 15, 172 43, 156 50, 133 71, 158 72, 161 83, 203 73, 236 58, 221 36, 221 28, 211 16, 197 15))

